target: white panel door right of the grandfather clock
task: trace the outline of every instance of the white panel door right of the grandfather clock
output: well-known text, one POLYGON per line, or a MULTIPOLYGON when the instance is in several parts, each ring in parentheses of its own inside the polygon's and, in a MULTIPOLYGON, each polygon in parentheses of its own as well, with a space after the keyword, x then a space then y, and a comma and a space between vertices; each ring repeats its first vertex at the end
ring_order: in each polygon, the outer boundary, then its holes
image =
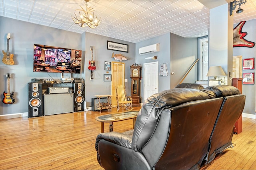
MULTIPOLYGON (((152 94, 158 93, 158 61, 143 64, 144 101, 152 94)), ((143 102, 144 102, 143 101, 143 102)))

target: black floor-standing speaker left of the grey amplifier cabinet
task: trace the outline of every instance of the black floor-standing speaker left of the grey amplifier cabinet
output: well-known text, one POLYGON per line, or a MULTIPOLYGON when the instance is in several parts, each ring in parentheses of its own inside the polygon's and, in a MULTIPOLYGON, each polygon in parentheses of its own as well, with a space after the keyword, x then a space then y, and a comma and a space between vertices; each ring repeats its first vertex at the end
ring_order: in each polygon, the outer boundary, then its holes
POLYGON ((28 83, 28 117, 44 114, 42 83, 28 83))

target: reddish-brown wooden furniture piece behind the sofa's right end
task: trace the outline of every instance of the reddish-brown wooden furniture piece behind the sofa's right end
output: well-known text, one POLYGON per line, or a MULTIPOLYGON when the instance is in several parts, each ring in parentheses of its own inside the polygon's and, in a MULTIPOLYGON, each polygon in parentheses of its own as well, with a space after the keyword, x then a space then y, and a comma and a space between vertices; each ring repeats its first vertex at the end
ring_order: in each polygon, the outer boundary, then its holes
MULTIPOLYGON (((232 86, 238 88, 242 94, 242 84, 243 84, 243 78, 233 78, 232 79, 232 86)), ((234 133, 239 134, 242 132, 242 115, 239 117, 239 119, 235 123, 234 133)))

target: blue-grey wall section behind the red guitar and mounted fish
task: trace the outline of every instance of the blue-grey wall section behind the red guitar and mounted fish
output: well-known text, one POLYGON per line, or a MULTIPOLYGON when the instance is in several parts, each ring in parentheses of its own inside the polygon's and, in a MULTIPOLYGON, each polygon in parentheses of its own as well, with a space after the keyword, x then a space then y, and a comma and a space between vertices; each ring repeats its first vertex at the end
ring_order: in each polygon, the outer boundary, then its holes
MULTIPOLYGON (((122 54, 127 58, 125 63, 125 79, 128 81, 125 82, 127 96, 131 95, 131 78, 130 78, 130 66, 135 63, 135 43, 122 41, 110 37, 105 37, 102 35, 96 35, 93 33, 85 33, 85 82, 86 82, 86 101, 88 102, 87 106, 91 106, 91 99, 95 98, 94 95, 99 94, 111 94, 111 82, 103 80, 103 74, 111 74, 111 70, 107 73, 104 70, 105 61, 115 61, 112 57, 114 54, 122 54), (128 45, 128 53, 122 51, 113 51, 107 49, 107 41, 114 41, 117 43, 123 43, 128 45), (88 70, 88 61, 91 59, 90 46, 93 46, 93 59, 95 60, 96 70, 93 71, 94 79, 90 80, 90 70, 88 70)), ((113 96, 115 97, 115 96, 113 96)))

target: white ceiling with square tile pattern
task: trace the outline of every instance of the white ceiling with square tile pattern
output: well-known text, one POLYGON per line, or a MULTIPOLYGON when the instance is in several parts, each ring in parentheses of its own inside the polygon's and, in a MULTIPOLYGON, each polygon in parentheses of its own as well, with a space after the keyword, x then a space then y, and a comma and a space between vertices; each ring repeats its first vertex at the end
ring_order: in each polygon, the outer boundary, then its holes
MULTIPOLYGON (((84 0, 0 0, 0 16, 133 43, 168 32, 208 35, 210 10, 197 0, 90 0, 88 6, 102 20, 94 29, 74 24, 71 16, 79 5, 84 6, 84 0)), ((256 0, 247 0, 241 8, 241 14, 234 11, 234 23, 256 18, 256 0)))

